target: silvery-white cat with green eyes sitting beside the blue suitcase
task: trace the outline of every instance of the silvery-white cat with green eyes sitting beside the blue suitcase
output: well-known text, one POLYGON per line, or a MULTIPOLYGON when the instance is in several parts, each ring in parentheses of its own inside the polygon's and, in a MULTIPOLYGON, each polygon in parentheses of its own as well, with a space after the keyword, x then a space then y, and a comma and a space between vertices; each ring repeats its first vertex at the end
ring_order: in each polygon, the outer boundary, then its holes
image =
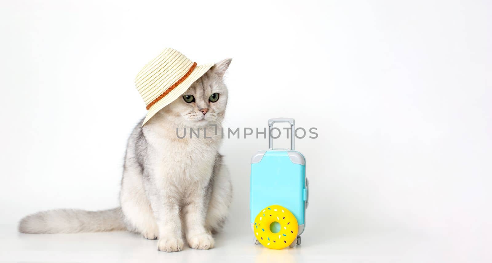
MULTIPOLYGON (((129 136, 120 207, 102 211, 58 209, 24 217, 22 233, 129 230, 158 239, 158 250, 214 247, 232 199, 232 184, 218 153, 228 91, 223 76, 231 63, 212 66, 183 94, 129 136), (214 126, 217 125, 217 126, 214 126), (178 129, 207 129, 207 138, 178 137, 178 129), (220 128, 219 128, 220 129, 220 128)), ((194 134, 193 134, 194 135, 194 134)))

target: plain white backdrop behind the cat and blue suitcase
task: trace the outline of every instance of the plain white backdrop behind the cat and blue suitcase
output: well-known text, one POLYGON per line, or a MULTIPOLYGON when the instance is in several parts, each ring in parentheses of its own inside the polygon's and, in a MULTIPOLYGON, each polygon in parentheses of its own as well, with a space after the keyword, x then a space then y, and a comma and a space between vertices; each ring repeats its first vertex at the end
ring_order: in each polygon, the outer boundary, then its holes
MULTIPOLYGON (((227 127, 292 117, 318 129, 296 141, 311 182, 300 249, 325 253, 311 260, 367 262, 366 245, 384 257, 394 249, 385 244, 409 239, 428 250, 401 250, 400 261, 490 260, 491 10, 488 1, 2 0, 0 223, 21 247, 10 250, 36 249, 15 234, 26 214, 118 205, 126 139, 145 114, 134 76, 173 47, 199 64, 233 58, 227 127), (337 250, 346 237, 353 246, 337 250)), ((221 149, 234 186, 225 235, 242 234, 244 246, 249 160, 265 148, 249 137, 221 149)))

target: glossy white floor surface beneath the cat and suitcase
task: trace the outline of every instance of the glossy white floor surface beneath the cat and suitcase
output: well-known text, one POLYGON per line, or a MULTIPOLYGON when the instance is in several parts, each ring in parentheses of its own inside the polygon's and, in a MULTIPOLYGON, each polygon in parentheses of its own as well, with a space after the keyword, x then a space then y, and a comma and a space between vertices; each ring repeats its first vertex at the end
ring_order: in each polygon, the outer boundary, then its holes
MULTIPOLYGON (((440 238, 398 233, 316 236, 303 234, 295 248, 271 250, 252 244, 251 235, 222 233, 215 248, 164 253, 157 241, 128 232, 80 234, 21 234, 1 226, 0 262, 482 262, 483 247, 440 238)), ((456 241, 456 240, 455 240, 456 241)), ((474 240, 475 241, 475 240, 474 240)))

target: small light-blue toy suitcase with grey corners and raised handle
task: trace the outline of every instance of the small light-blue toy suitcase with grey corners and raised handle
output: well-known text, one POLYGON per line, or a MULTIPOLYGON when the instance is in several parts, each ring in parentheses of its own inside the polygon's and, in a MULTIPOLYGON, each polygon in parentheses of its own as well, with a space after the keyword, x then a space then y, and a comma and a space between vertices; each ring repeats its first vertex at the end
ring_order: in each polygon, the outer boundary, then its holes
MULTIPOLYGON (((307 208, 306 159, 294 150, 295 120, 275 118, 268 120, 269 134, 274 123, 287 122, 291 126, 291 149, 273 148, 269 135, 268 150, 259 151, 251 158, 250 174, 250 223, 254 231, 255 217, 270 205, 281 205, 292 212, 298 222, 297 238, 291 247, 301 244, 301 233, 305 229, 307 208)), ((258 240, 255 236, 255 244, 258 240)))

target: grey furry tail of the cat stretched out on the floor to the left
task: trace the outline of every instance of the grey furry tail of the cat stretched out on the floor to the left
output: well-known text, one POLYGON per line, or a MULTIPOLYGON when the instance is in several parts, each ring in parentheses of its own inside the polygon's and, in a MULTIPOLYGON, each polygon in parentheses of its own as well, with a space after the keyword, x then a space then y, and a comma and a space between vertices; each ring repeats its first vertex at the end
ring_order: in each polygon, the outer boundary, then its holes
POLYGON ((126 230, 121 207, 100 211, 77 209, 41 211, 26 216, 19 222, 19 232, 32 234, 117 230, 126 230))

